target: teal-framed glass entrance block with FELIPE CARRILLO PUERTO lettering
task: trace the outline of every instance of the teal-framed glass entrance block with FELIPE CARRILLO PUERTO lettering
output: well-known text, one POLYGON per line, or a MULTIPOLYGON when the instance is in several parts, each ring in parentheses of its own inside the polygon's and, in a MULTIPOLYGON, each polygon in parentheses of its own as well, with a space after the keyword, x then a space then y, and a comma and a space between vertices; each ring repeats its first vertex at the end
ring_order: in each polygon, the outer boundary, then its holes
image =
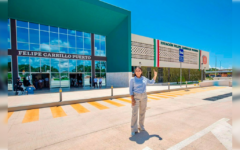
POLYGON ((130 11, 99 0, 9 0, 8 8, 9 89, 18 77, 48 89, 89 87, 95 76, 128 85, 130 11))

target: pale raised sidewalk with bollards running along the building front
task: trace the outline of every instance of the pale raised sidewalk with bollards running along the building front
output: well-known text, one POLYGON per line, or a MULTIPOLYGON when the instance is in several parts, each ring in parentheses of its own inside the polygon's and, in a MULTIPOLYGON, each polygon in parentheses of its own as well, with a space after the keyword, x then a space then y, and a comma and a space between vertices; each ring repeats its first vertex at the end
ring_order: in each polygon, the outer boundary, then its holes
MULTIPOLYGON (((188 85, 188 87, 194 87, 194 85, 188 85)), ((195 86, 196 87, 196 86, 195 86)), ((181 89, 180 86, 172 86, 171 89, 181 89)), ((186 88, 185 85, 182 88, 186 88)), ((168 90, 168 86, 147 86, 147 92, 153 91, 164 91, 168 90)), ((129 88, 114 88, 113 96, 128 95, 129 88)), ((62 93, 62 102, 85 100, 85 99, 96 99, 106 98, 111 96, 111 89, 92 89, 83 91, 72 91, 62 93)), ((22 95, 22 96, 9 96, 8 97, 8 108, 49 104, 59 102, 59 93, 47 93, 37 95, 22 95)))

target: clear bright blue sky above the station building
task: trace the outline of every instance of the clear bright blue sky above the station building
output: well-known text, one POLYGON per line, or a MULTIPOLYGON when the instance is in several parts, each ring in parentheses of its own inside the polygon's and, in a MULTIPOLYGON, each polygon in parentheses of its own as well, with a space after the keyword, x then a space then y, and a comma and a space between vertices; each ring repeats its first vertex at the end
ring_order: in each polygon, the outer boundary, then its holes
POLYGON ((232 68, 230 0, 102 0, 132 13, 132 33, 204 51, 232 68))

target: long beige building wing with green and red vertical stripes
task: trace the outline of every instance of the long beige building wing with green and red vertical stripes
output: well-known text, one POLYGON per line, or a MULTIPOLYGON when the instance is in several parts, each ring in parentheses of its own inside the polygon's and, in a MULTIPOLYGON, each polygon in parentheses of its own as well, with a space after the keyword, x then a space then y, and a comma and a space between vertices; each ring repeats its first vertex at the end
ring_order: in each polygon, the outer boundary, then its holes
POLYGON ((141 66, 143 75, 151 79, 153 70, 158 72, 156 82, 179 82, 180 68, 182 81, 198 81, 201 73, 209 69, 209 52, 132 34, 132 73, 141 66), (180 67, 179 49, 184 50, 184 62, 180 67))

